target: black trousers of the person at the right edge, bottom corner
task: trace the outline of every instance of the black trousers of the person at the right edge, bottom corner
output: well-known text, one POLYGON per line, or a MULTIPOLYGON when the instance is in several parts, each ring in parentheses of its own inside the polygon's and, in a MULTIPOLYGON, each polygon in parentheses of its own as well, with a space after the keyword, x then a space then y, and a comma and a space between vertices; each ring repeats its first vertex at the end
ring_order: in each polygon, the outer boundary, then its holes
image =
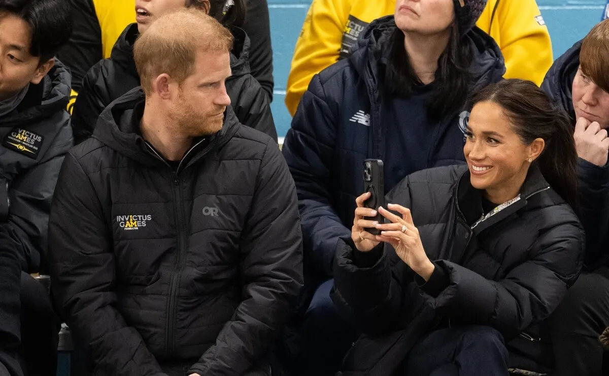
POLYGON ((609 325, 609 268, 582 273, 549 324, 556 358, 553 376, 602 375, 599 335, 609 325))

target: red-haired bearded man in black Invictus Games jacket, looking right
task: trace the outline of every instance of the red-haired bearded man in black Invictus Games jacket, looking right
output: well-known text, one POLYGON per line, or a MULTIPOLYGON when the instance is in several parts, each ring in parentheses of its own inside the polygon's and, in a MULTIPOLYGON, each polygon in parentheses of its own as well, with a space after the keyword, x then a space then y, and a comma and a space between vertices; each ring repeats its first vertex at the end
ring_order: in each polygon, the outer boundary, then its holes
POLYGON ((134 46, 143 93, 68 154, 51 219, 52 293, 95 375, 268 375, 302 279, 281 153, 231 110, 230 31, 198 10, 134 46))

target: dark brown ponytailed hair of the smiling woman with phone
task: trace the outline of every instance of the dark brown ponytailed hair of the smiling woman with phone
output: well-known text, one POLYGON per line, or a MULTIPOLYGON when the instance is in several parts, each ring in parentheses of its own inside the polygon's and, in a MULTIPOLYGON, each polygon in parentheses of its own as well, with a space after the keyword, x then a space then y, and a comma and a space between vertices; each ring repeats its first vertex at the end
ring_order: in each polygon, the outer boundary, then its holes
POLYGON ((503 108, 524 144, 542 138, 546 147, 537 161, 549 185, 573 208, 577 208, 577 151, 573 126, 566 113, 552 104, 535 83, 509 79, 493 83, 473 98, 493 102, 503 108))

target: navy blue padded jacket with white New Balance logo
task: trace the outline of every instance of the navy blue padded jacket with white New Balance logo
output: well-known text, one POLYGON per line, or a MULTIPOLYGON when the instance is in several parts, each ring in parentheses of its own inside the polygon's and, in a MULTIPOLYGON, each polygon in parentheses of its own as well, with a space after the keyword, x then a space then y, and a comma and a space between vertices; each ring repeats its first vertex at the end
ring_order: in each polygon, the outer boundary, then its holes
MULTIPOLYGON (((385 159, 384 114, 392 101, 383 98, 383 55, 395 27, 393 16, 374 21, 362 32, 349 59, 314 76, 287 132, 283 154, 297 186, 309 278, 311 273, 322 279, 333 275, 337 241, 350 238, 355 198, 362 194, 364 159, 385 159)), ((463 40, 471 45, 471 87, 501 80, 505 66, 495 41, 479 29, 463 40)), ((464 160, 463 135, 446 132, 451 127, 463 130, 465 116, 460 118, 460 113, 468 115, 459 111, 442 120, 444 132, 434 134, 428 168, 464 160)), ((407 173, 385 174, 385 193, 407 173)))

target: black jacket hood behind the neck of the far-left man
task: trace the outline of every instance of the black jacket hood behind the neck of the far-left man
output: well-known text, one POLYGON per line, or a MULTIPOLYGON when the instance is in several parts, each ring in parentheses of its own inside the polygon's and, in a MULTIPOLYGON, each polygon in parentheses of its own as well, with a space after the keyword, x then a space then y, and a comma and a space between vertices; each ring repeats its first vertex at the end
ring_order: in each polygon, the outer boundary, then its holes
POLYGON ((31 85, 21 104, 2 118, 2 126, 35 122, 48 118, 68 107, 72 75, 68 68, 55 59, 55 65, 38 83, 31 85))

